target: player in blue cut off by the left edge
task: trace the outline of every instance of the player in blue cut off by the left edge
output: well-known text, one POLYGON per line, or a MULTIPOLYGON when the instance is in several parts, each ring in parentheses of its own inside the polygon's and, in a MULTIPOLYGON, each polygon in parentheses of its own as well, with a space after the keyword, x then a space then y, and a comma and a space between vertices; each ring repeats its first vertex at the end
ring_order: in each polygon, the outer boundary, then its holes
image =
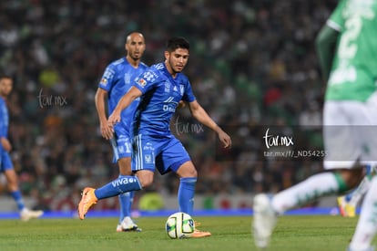
POLYGON ((17 174, 9 156, 12 144, 7 138, 9 127, 9 112, 6 105, 6 97, 13 89, 13 79, 9 76, 0 78, 0 172, 5 174, 9 193, 12 195, 20 212, 21 220, 28 221, 38 218, 43 214, 41 210, 30 210, 25 207, 23 196, 18 187, 17 174))

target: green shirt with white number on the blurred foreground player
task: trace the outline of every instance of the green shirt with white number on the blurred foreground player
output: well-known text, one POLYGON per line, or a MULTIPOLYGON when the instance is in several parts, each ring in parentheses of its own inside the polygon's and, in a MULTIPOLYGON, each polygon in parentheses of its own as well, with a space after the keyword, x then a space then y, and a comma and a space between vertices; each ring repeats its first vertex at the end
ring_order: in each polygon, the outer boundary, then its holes
POLYGON ((325 99, 365 101, 377 89, 377 0, 341 0, 327 26, 340 37, 325 99))

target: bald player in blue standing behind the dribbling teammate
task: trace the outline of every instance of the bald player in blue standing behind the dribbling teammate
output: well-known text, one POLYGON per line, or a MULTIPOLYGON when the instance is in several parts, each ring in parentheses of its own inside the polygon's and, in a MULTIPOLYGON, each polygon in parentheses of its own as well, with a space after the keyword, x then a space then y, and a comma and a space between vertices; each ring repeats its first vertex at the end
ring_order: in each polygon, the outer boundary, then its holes
MULTIPOLYGON (((132 81, 137 78, 147 67, 141 62, 141 57, 146 49, 144 36, 139 32, 132 32, 127 36, 125 48, 126 57, 119 58, 110 63, 99 82, 96 93, 96 108, 100 122, 102 136, 111 142, 114 152, 113 162, 119 166, 119 179, 132 175, 131 171, 131 137, 130 127, 134 112, 138 106, 138 99, 134 100, 127 110, 121 113, 122 120, 113 128, 107 124, 105 100, 107 99, 108 114, 117 106, 117 102, 130 89, 132 81)), ((134 191, 120 193, 119 223, 117 232, 141 231, 131 219, 131 205, 134 191)))

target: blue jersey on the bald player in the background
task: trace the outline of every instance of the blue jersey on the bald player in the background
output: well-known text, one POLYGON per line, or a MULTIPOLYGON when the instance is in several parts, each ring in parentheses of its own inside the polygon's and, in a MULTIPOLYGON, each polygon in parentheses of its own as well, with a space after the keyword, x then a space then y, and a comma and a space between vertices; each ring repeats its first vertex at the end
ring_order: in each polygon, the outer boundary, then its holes
MULTIPOLYGON (((131 88, 133 80, 144 72, 146 68, 148 66, 142 62, 140 62, 138 68, 134 68, 128 63, 127 58, 119 58, 107 66, 98 87, 107 90, 108 114, 113 112, 119 99, 131 88)), ((126 128, 131 125, 137 106, 138 99, 122 111, 121 124, 126 128)))

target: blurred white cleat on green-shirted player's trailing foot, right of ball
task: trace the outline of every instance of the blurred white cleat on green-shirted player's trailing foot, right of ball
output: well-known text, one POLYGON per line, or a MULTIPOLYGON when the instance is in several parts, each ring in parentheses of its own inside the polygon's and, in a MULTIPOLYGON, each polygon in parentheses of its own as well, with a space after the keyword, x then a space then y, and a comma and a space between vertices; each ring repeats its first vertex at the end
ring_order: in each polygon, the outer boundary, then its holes
POLYGON ((277 214, 273 211, 266 194, 258 194, 253 200, 253 235, 255 246, 265 248, 270 243, 270 236, 276 225, 277 214))

